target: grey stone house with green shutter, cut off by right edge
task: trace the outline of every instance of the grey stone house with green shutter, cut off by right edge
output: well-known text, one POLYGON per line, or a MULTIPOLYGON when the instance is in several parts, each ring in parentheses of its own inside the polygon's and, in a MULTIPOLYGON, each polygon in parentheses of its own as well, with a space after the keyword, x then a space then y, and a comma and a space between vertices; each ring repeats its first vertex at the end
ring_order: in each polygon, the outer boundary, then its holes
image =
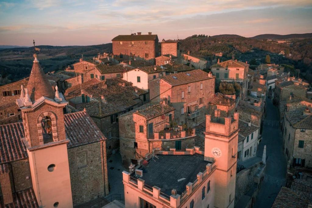
POLYGON ((311 112, 311 107, 303 107, 284 114, 283 149, 293 166, 312 167, 311 112))

